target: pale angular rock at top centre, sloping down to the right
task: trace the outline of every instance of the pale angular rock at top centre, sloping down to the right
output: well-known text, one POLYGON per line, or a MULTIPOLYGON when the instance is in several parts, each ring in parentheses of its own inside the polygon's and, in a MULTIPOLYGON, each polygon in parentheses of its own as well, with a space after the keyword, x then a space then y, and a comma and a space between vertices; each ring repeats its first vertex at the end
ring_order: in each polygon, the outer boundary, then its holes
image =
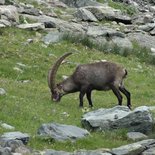
POLYGON ((90 22, 98 21, 96 17, 85 8, 78 9, 78 11, 75 13, 75 16, 82 21, 90 21, 90 22))

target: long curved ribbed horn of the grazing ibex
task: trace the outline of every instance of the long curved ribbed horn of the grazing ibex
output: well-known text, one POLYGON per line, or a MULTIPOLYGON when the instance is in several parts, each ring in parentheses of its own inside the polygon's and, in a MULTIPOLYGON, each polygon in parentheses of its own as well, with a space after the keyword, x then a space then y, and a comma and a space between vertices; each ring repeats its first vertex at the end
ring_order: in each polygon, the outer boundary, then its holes
POLYGON ((51 89, 51 91, 54 89, 55 87, 55 77, 56 77, 56 73, 57 73, 57 70, 61 64, 61 62, 69 55, 71 55, 72 52, 69 52, 69 53, 65 53, 64 55, 62 55, 56 62, 55 64, 53 65, 52 69, 49 71, 49 74, 48 74, 48 86, 49 88, 51 89))

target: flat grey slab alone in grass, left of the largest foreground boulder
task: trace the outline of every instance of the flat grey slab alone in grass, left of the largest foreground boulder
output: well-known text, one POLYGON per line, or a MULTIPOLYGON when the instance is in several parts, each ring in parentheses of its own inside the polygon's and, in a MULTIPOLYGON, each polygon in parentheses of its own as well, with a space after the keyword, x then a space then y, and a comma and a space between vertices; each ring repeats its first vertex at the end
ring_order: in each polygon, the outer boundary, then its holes
POLYGON ((38 135, 41 137, 50 137, 56 141, 71 140, 75 141, 89 135, 85 129, 81 129, 72 125, 64 125, 58 123, 43 124, 38 129, 38 135))

